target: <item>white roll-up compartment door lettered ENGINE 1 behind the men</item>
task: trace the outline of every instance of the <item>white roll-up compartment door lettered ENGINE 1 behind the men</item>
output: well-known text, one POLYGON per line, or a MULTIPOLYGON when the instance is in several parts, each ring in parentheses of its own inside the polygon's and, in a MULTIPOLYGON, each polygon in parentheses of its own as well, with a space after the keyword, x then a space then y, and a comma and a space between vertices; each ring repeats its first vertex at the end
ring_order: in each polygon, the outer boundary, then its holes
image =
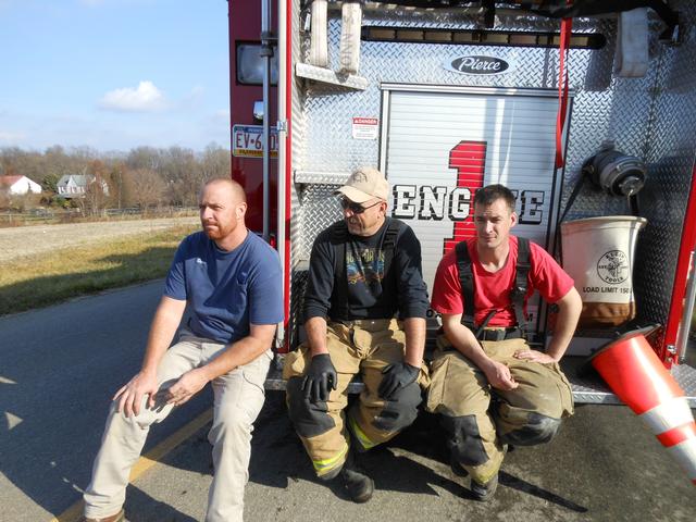
MULTIPOLYGON (((500 183, 517 192, 512 233, 552 247, 562 178, 555 169, 555 91, 383 88, 389 212, 420 239, 428 288, 445 251, 473 237, 471 202, 482 186, 500 183)), ((530 303, 532 314, 537 310, 530 303)))

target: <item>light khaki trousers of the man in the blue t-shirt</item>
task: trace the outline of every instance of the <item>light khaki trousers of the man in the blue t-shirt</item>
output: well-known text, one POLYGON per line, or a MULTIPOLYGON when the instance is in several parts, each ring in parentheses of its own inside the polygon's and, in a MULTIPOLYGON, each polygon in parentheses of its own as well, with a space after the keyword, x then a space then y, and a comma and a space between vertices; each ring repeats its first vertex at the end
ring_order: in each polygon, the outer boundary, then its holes
MULTIPOLYGON (((206 364, 226 349, 226 345, 194 337, 183 331, 158 368, 160 388, 174 384, 181 375, 206 364)), ((244 366, 212 382, 213 423, 208 439, 213 446, 214 476, 208 495, 207 522, 241 521, 244 488, 249 478, 251 431, 265 399, 263 383, 269 372, 271 350, 244 366)), ((130 468, 140 456, 150 425, 161 422, 173 406, 156 405, 126 418, 111 405, 101 449, 95 459, 91 483, 85 492, 85 515, 105 518, 116 513, 125 501, 130 468)))

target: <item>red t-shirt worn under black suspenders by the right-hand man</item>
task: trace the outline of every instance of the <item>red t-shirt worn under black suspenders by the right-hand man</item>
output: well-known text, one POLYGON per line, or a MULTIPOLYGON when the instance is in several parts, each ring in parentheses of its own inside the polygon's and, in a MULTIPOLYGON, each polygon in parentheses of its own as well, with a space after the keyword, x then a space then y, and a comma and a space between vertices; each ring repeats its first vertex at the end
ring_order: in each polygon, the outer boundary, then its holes
MULTIPOLYGON (((510 236, 510 253, 505 266, 498 272, 486 272, 478 261, 476 238, 467 239, 471 266, 474 273, 474 321, 481 324, 492 310, 498 310, 488 325, 513 326, 517 323, 510 289, 514 285, 518 261, 518 238, 510 236)), ((538 245, 530 241, 530 273, 524 306, 534 290, 538 290, 547 302, 556 302, 573 287, 573 279, 556 260, 538 245)), ((433 310, 439 313, 463 313, 457 251, 451 249, 437 266, 431 300, 433 310)))

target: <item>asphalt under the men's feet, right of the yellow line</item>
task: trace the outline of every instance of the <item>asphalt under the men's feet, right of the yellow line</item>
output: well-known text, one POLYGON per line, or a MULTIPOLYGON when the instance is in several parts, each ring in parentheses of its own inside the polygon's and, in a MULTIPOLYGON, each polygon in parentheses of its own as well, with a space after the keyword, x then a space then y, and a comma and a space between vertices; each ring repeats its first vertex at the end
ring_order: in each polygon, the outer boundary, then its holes
MULTIPOLYGON (((490 504, 469 497, 451 473, 437 422, 423 415, 407 432, 362 456, 372 500, 356 505, 313 476, 277 393, 257 422, 247 522, 693 522, 694 486, 625 407, 582 406, 551 444, 509 453, 490 504)), ((128 489, 132 522, 194 522, 204 517, 210 446, 201 430, 128 489)))

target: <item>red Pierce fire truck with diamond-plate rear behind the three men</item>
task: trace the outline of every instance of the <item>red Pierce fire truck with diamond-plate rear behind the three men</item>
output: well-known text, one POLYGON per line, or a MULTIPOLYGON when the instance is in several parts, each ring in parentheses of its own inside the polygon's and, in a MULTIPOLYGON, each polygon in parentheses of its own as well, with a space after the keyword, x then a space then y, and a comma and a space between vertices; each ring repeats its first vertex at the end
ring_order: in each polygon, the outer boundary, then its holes
MULTIPOLYGON (((641 220, 633 250, 608 252, 593 265, 604 283, 579 290, 618 293, 627 262, 632 324, 659 326, 651 349, 696 407, 694 2, 228 0, 228 12, 232 177, 283 262, 278 353, 302 340, 312 241, 341 217, 334 190, 373 165, 389 214, 421 241, 428 287, 492 183, 517 194, 514 234, 564 266, 593 241, 561 248, 561 223, 641 220)), ((539 344, 552 315, 529 306, 539 344)), ((433 314, 431 339, 436 327, 433 314)), ((577 330, 562 361, 577 402, 620 402, 577 372, 620 333, 577 330)), ((283 389, 277 375, 266 387, 283 389)))

